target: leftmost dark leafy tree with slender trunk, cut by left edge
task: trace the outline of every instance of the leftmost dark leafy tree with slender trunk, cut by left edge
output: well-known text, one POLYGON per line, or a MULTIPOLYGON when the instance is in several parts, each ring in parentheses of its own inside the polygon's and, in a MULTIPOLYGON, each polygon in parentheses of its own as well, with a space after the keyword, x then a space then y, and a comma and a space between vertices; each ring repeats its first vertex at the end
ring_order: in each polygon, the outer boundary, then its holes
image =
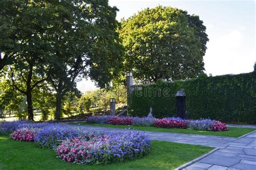
POLYGON ((9 77, 15 89, 25 94, 28 117, 33 120, 32 92, 48 78, 52 63, 46 32, 55 30, 59 22, 48 1, 1 1, 1 40, 3 63, 9 65, 9 77))

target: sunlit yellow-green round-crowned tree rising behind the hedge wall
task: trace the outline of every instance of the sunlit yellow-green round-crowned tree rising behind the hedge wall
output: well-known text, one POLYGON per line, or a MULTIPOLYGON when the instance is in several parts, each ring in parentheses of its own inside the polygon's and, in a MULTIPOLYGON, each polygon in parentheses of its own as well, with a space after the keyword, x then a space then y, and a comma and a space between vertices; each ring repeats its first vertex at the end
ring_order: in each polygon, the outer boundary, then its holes
POLYGON ((171 7, 145 9, 122 20, 124 71, 140 81, 197 77, 204 70, 208 41, 198 16, 171 7))

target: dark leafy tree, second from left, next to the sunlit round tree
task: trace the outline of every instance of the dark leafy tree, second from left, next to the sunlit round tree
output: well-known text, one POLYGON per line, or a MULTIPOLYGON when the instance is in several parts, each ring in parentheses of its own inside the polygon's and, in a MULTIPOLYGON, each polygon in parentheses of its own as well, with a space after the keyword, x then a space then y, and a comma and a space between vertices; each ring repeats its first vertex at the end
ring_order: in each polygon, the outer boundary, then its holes
POLYGON ((105 87, 122 66, 122 44, 116 32, 116 7, 107 1, 69 2, 59 4, 56 30, 47 33, 55 67, 49 80, 56 91, 56 115, 60 119, 62 99, 76 91, 76 81, 90 77, 105 87))

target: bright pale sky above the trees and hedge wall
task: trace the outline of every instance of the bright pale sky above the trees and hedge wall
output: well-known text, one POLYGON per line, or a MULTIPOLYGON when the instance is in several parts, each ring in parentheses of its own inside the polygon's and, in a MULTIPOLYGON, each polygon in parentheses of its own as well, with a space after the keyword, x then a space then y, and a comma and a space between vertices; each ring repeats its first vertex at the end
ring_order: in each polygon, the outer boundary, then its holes
MULTIPOLYGON (((183 0, 109 0, 117 6, 117 20, 129 18, 145 8, 171 6, 198 15, 210 39, 204 56, 205 73, 213 76, 253 71, 256 61, 256 0, 183 1, 183 0)), ((77 84, 80 91, 96 89, 89 79, 77 84)))

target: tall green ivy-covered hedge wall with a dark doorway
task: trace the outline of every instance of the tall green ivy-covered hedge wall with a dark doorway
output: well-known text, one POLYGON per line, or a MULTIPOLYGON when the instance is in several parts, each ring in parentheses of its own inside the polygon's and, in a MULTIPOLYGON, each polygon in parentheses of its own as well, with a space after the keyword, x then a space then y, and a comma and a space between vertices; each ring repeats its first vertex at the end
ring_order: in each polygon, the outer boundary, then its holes
POLYGON ((177 115, 176 92, 186 92, 186 112, 190 119, 210 118, 228 123, 256 124, 256 73, 199 77, 174 83, 135 89, 129 98, 129 115, 156 118, 177 115))

